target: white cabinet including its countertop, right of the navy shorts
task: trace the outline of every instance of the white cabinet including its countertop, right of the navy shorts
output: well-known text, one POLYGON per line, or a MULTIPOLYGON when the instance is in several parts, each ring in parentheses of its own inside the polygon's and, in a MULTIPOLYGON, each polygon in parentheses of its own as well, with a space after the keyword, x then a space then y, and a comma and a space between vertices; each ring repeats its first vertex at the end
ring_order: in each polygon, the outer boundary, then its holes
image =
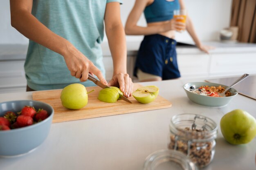
MULTIPOLYGON (((210 44, 211 45, 211 44, 210 44)), ((177 49, 181 78, 256 75, 256 44, 215 43, 210 54, 197 48, 177 49)))

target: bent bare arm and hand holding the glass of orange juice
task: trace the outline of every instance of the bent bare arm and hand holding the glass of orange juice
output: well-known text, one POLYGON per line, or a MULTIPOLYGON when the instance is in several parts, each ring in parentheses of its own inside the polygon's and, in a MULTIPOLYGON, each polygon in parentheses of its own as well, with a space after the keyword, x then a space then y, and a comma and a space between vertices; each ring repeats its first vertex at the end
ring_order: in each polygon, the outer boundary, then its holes
POLYGON ((137 26, 137 22, 150 0, 136 0, 135 4, 127 18, 125 32, 127 35, 151 35, 162 33, 170 30, 182 29, 183 24, 170 20, 163 24, 150 26, 137 26), (181 27, 180 27, 181 26, 181 27))

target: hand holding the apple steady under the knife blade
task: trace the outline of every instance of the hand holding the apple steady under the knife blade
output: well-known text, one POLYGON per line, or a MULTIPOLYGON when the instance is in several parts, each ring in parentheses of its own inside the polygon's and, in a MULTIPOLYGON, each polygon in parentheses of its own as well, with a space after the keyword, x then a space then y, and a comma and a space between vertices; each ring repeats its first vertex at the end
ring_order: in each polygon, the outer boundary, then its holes
POLYGON ((125 97, 132 95, 133 83, 128 74, 118 73, 114 75, 108 83, 108 86, 119 86, 125 97))

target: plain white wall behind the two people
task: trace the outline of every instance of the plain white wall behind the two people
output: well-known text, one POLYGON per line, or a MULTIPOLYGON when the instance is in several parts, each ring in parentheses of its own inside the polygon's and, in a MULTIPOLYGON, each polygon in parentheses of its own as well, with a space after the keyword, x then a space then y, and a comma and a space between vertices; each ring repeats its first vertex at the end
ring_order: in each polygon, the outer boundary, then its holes
MULTIPOLYGON (((123 0, 121 19, 123 24, 135 0, 123 0)), ((184 0, 198 37, 202 41, 218 40, 218 32, 229 26, 232 0, 184 0)), ((138 22, 145 26, 144 15, 138 22)), ((140 41, 142 36, 126 36, 127 41, 140 41)), ((187 32, 177 33, 177 41, 193 42, 187 32)), ((106 38, 104 39, 106 41, 106 38)), ((27 44, 28 40, 11 27, 9 0, 0 2, 0 44, 27 44)))

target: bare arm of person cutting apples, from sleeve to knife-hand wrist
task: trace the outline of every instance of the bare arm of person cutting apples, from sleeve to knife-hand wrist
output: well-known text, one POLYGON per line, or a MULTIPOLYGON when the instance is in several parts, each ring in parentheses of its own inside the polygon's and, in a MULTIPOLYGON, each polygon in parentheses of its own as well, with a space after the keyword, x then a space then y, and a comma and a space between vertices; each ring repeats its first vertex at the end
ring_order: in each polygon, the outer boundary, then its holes
POLYGON ((32 3, 33 0, 10 0, 11 26, 30 40, 56 53, 64 53, 68 41, 50 31, 31 14, 32 3))

